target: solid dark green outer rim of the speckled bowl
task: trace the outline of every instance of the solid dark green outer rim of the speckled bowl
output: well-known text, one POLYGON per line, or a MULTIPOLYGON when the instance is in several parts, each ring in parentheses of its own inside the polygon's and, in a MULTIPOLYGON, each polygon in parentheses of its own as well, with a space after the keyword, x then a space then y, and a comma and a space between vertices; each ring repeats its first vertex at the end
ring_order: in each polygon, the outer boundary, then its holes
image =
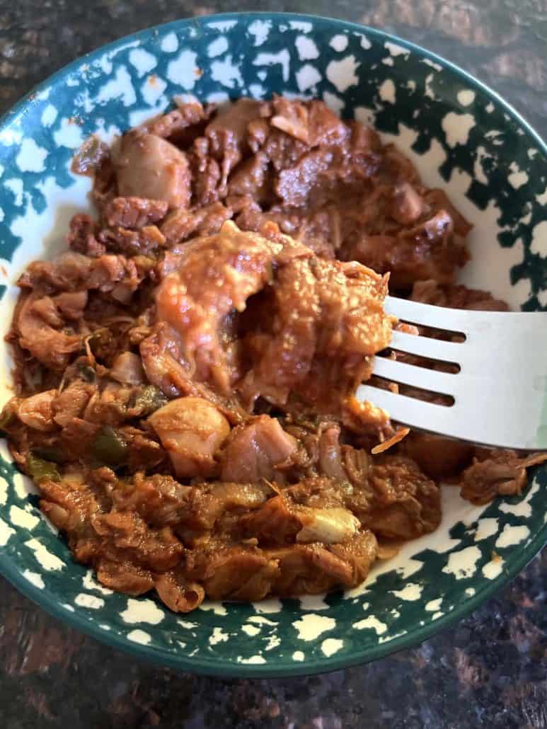
MULTIPOLYGON (((4 114, 0 116, 0 131, 9 125, 13 118, 23 112, 24 109, 26 109, 26 106, 34 101, 36 95, 39 95, 52 87, 55 83, 59 82, 72 71, 77 71, 79 66, 81 66, 85 61, 93 62, 106 52, 116 50, 120 46, 124 46, 130 42, 150 36, 151 34, 158 34, 159 32, 164 34, 168 31, 176 31, 180 28, 188 28, 191 26, 201 26, 202 24, 211 22, 242 19, 267 19, 279 23, 283 20, 299 20, 300 22, 307 21, 309 23, 314 23, 314 21, 319 21, 320 23, 327 22, 331 24, 333 31, 354 31, 365 34, 366 36, 371 36, 382 43, 396 43, 401 47, 407 48, 411 52, 416 52, 416 54, 421 55, 422 58, 427 58, 434 63, 438 63, 442 67, 443 71, 451 72, 455 76, 464 80, 468 85, 470 85, 470 87, 474 87, 481 93, 486 94, 491 101, 499 105, 503 111, 512 117, 513 121, 517 122, 524 132, 533 139, 538 147, 538 151, 543 155, 543 157, 547 157, 547 143, 543 141, 532 125, 530 125, 529 122, 527 122, 524 117, 522 117, 522 115, 496 91, 484 84, 484 82, 481 82, 468 71, 457 66, 456 63, 443 58, 435 52, 427 50, 419 44, 407 41, 400 36, 383 31, 379 28, 364 26, 360 23, 353 23, 342 18, 333 18, 325 15, 314 15, 300 12, 222 12, 214 13, 213 15, 179 18, 178 20, 171 20, 168 23, 159 23, 155 26, 142 28, 132 34, 122 36, 115 41, 104 44, 85 55, 79 56, 74 61, 71 61, 66 64, 66 66, 61 67, 61 69, 55 71, 55 73, 32 87, 31 90, 20 99, 20 101, 16 102, 12 107, 10 107, 10 109, 8 109, 7 112, 4 112, 4 114)), ((78 631, 91 636, 93 639, 98 640, 98 642, 106 644, 117 650, 121 650, 136 658, 143 658, 151 663, 155 663, 156 665, 167 666, 168 668, 173 668, 177 671, 189 671, 191 673, 206 676, 222 678, 274 678, 322 674, 329 671, 337 671, 341 668, 350 668, 362 663, 369 663, 379 658, 385 658, 400 650, 415 647, 424 640, 434 636, 446 628, 449 628, 451 625, 454 625, 454 623, 462 620, 462 618, 467 617, 487 599, 492 597, 502 588, 506 587, 509 582, 511 582, 511 580, 513 580, 513 578, 516 577, 516 575, 519 574, 525 566, 527 566, 529 561, 535 557, 546 542, 547 522, 540 531, 535 534, 535 537, 530 539, 525 546, 519 548, 519 556, 517 558, 513 558, 511 566, 504 569, 503 574, 500 577, 496 580, 492 580, 492 582, 486 583, 484 588, 478 590, 464 603, 454 607, 451 612, 439 617, 438 620, 432 621, 431 623, 427 623, 423 626, 417 625, 414 630, 408 631, 405 635, 395 637, 386 643, 377 643, 376 646, 368 648, 367 650, 360 650, 359 647, 355 647, 352 650, 352 655, 350 656, 341 655, 337 657, 334 655, 330 658, 327 658, 326 656, 323 658, 306 658, 301 663, 294 662, 292 665, 286 665, 280 668, 276 668, 273 664, 268 665, 268 663, 264 665, 249 665, 228 661, 222 663, 222 661, 218 658, 208 659, 198 656, 193 658, 170 650, 132 642, 126 636, 119 636, 117 634, 110 633, 104 628, 101 628, 97 623, 87 620, 83 614, 77 611, 77 609, 75 609, 74 612, 69 612, 69 610, 64 608, 47 592, 47 590, 37 588, 29 582, 25 577, 23 577, 23 574, 15 568, 12 558, 4 550, 0 550, 0 574, 2 574, 2 576, 5 577, 20 593, 33 601, 34 604, 44 609, 44 611, 49 613, 49 615, 55 617, 55 619, 61 620, 61 622, 69 625, 70 628, 75 628, 78 631)))

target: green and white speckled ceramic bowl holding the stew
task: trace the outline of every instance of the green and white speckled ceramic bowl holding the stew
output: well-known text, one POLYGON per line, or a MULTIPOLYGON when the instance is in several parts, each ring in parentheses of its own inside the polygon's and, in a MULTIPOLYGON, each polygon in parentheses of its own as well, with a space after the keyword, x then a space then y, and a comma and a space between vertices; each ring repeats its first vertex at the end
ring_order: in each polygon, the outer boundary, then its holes
MULTIPOLYGON (((323 98, 397 141, 427 184, 445 188, 475 225, 462 281, 547 307, 546 146, 478 81, 370 28, 283 14, 218 15, 143 31, 75 61, 0 122, 1 327, 18 273, 63 246, 88 208, 90 181, 69 171, 90 133, 105 139, 168 106, 272 93, 323 98)), ((9 353, 1 356, 9 397, 9 353)), ((66 623, 174 668, 226 676, 329 671, 408 647, 468 614, 546 542, 547 467, 527 492, 473 507, 443 491, 443 522, 360 588, 260 604, 205 603, 190 615, 112 593, 71 560, 34 489, 0 461, 0 571, 66 623), (492 560, 495 550, 500 559, 492 560)))

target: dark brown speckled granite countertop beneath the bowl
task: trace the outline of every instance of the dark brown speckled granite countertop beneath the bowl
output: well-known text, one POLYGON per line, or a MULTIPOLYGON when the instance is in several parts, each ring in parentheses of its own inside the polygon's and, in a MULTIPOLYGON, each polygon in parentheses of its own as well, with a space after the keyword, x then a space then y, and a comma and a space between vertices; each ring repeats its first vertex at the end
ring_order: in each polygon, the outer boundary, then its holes
MULTIPOLYGON (((0 113, 106 42, 233 9, 331 15, 400 34, 476 74, 547 136, 547 0, 0 0, 0 113)), ((547 727, 546 591, 547 551, 499 596, 414 650, 323 676, 249 681, 139 663, 66 628, 1 580, 0 725, 547 727)))

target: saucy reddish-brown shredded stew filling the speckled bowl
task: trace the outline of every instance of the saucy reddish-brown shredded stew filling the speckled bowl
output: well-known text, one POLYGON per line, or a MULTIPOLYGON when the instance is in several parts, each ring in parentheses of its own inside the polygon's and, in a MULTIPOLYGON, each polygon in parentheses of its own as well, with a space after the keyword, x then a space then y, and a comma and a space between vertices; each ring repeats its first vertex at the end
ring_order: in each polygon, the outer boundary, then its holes
POLYGON ((0 425, 103 585, 179 612, 353 587, 438 526, 441 479, 486 503, 546 459, 403 438, 354 398, 392 327, 416 332, 388 279, 506 308, 455 284, 470 225, 371 128, 320 101, 190 103, 91 138, 74 171, 97 215, 20 276, 0 425))

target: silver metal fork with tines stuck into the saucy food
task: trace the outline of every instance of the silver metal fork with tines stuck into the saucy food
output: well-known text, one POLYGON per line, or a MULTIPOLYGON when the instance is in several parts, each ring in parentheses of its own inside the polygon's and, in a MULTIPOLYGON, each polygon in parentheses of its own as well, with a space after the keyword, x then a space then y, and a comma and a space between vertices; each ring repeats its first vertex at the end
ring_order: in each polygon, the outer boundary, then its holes
POLYGON ((393 332, 390 348, 452 362, 444 373, 376 356, 373 373, 395 383, 449 395, 438 405, 371 385, 357 388, 408 426, 482 445, 547 448, 547 316, 541 312, 463 311, 388 296, 387 313, 400 321, 449 332, 465 341, 443 341, 393 332))

